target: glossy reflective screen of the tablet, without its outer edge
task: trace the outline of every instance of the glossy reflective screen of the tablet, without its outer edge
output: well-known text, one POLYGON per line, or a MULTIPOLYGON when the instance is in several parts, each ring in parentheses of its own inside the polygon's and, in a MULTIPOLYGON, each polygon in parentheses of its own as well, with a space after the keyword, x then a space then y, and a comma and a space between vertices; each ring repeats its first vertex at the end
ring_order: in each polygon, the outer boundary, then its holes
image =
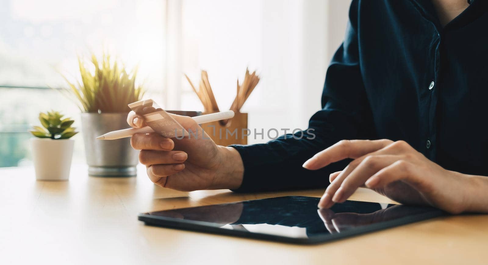
MULTIPOLYGON (((441 215, 439 210, 424 206, 346 201, 330 209, 318 209, 318 202, 319 198, 315 197, 286 196, 150 212, 147 215, 289 238, 323 237, 429 212, 441 215)), ((411 222, 415 221, 418 220, 411 222)))

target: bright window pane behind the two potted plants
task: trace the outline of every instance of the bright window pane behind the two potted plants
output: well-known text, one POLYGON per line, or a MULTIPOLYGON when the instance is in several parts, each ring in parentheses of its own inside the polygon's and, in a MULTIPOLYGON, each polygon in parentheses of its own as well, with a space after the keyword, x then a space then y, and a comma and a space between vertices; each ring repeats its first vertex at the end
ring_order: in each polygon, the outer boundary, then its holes
MULTIPOLYGON (((29 124, 40 111, 79 110, 58 91, 78 78, 77 55, 108 50, 161 97, 165 67, 163 0, 0 0, 0 167, 28 164, 29 124), (20 107, 29 102, 28 108, 20 107)), ((75 136, 81 139, 81 136, 75 136)), ((83 160, 76 141, 74 160, 83 160)))

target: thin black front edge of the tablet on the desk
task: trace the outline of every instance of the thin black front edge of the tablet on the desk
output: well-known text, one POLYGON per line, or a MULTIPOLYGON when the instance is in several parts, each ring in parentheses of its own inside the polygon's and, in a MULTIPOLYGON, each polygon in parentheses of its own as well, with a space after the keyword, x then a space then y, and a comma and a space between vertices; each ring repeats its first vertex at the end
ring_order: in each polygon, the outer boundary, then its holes
MULTIPOLYGON (((305 196, 284 196, 284 197, 305 197, 305 196)), ((362 201, 353 201, 353 202, 370 203, 370 202, 362 202, 362 201)), ((427 220, 427 219, 431 219, 443 215, 447 215, 447 213, 442 210, 433 209, 430 212, 426 212, 422 214, 411 215, 411 216, 407 216, 407 217, 403 217, 391 221, 360 226, 336 234, 317 235, 309 238, 292 238, 292 237, 284 237, 284 236, 277 236, 277 235, 270 235, 270 234, 263 234, 263 233, 254 233, 254 232, 242 231, 242 230, 226 229, 226 228, 221 228, 220 227, 221 224, 168 218, 163 216, 149 215, 146 213, 140 213, 138 215, 138 220, 144 222, 146 225, 152 225, 152 226, 176 228, 176 229, 205 232, 211 234, 239 236, 244 238, 261 239, 261 240, 268 240, 268 241, 278 241, 284 243, 311 245, 311 244, 330 242, 330 241, 343 239, 355 235, 361 235, 361 234, 374 232, 378 230, 383 230, 386 228, 400 226, 403 224, 415 223, 415 222, 419 222, 419 221, 423 221, 423 220, 427 220)))

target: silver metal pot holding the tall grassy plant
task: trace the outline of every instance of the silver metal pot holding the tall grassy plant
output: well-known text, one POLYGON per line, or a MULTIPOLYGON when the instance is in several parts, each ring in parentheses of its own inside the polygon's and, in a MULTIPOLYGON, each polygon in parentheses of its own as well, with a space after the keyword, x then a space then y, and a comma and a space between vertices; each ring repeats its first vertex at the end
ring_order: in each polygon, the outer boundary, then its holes
POLYGON ((130 146, 130 138, 97 140, 110 131, 125 129, 127 113, 81 113, 81 129, 85 144, 88 174, 103 177, 137 175, 139 151, 130 146))

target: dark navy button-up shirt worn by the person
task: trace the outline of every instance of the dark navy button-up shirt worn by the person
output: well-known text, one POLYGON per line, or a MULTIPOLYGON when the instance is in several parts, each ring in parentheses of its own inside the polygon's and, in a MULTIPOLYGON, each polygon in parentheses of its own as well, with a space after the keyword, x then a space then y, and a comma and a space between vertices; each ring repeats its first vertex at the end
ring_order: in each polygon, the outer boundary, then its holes
POLYGON ((309 122, 315 138, 233 145, 244 162, 236 191, 325 187, 347 161, 302 164, 343 139, 405 140, 446 169, 488 176, 487 7, 474 0, 442 26, 431 0, 353 0, 309 122))

